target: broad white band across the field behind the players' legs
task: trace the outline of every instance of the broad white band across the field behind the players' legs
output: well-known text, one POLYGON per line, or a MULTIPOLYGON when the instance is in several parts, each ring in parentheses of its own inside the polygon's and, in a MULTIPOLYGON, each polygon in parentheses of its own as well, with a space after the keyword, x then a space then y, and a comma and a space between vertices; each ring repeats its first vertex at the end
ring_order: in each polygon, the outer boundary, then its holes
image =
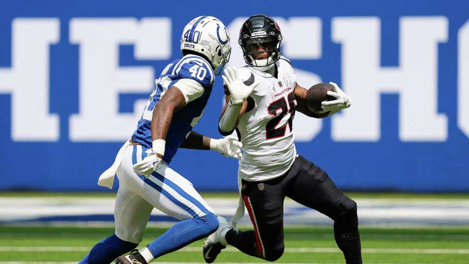
MULTIPOLYGON (((208 198, 206 201, 220 215, 231 216, 238 204, 237 198, 208 198)), ((366 226, 419 226, 419 225, 469 225, 469 199, 357 199, 361 225, 366 226)), ((289 225, 332 224, 332 220, 320 213, 306 209, 286 199, 285 220, 289 225)), ((112 224, 113 198, 0 198, 0 223, 15 222, 94 222, 80 217, 104 215, 112 224), (67 220, 68 219, 68 220, 67 220)), ((164 216, 154 210, 153 217, 164 216)), ((163 219, 164 220, 164 219, 163 219)), ((153 221, 152 221, 153 222, 153 221)), ((161 223, 154 221, 155 223, 161 223)), ((241 224, 251 224, 249 217, 241 224)), ((167 223, 172 225, 173 223, 167 223)))

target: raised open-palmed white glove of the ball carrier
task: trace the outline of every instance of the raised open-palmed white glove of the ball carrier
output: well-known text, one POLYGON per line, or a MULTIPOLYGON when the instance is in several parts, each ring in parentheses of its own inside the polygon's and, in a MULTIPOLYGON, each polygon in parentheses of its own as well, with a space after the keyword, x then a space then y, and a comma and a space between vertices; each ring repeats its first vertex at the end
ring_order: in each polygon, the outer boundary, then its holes
POLYGON ((241 79, 240 72, 236 71, 235 67, 227 67, 223 72, 225 74, 221 78, 223 78, 225 85, 230 90, 231 101, 235 105, 242 104, 254 88, 259 85, 259 82, 254 82, 250 86, 245 85, 241 79))

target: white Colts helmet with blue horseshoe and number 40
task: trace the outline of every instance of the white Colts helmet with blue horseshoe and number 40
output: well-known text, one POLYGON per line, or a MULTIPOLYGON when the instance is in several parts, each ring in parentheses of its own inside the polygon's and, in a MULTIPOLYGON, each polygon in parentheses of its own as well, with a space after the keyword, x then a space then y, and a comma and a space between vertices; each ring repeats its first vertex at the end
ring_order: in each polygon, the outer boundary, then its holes
POLYGON ((230 60, 230 36, 223 22, 217 18, 196 17, 182 32, 181 51, 183 50, 192 50, 206 56, 215 75, 219 75, 230 60))

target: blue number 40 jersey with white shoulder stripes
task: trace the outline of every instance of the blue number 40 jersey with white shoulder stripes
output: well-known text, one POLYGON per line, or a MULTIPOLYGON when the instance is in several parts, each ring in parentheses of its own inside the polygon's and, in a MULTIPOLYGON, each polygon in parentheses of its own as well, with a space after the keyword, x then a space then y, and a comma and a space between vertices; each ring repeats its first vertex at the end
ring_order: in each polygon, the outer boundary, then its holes
POLYGON ((214 73, 212 66, 205 59, 196 55, 186 55, 166 66, 155 81, 156 87, 150 94, 142 118, 138 121, 137 130, 132 135, 133 141, 151 148, 150 124, 153 109, 169 88, 174 86, 177 81, 185 78, 199 82, 204 87, 204 92, 200 97, 189 102, 173 114, 166 137, 165 155, 163 157, 163 160, 167 163, 171 162, 179 146, 202 117, 202 112, 212 92, 214 73))

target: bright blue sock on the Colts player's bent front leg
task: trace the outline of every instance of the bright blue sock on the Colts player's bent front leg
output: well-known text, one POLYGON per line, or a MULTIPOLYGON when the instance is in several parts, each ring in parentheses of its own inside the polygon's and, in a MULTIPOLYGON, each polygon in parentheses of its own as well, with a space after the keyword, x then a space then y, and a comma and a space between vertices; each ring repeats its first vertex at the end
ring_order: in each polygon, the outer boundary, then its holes
POLYGON ((212 234, 217 228, 216 215, 209 213, 203 217, 180 221, 147 247, 156 259, 212 234))

